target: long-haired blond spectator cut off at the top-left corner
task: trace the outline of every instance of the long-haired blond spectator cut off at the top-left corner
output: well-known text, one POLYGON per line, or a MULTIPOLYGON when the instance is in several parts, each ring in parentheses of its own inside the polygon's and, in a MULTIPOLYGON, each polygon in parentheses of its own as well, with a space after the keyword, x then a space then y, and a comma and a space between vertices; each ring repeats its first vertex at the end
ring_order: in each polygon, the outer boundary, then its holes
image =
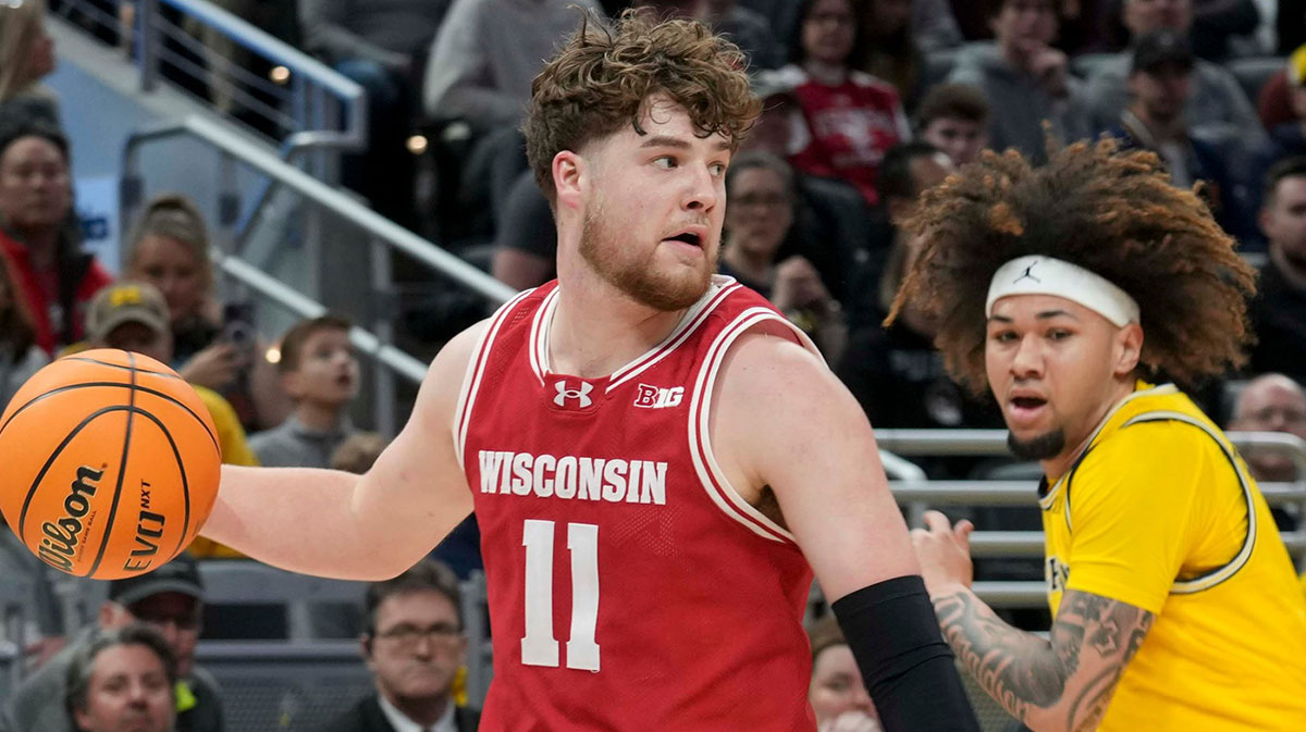
POLYGON ((0 3, 0 120, 59 127, 59 102, 42 78, 55 70, 44 0, 0 3))

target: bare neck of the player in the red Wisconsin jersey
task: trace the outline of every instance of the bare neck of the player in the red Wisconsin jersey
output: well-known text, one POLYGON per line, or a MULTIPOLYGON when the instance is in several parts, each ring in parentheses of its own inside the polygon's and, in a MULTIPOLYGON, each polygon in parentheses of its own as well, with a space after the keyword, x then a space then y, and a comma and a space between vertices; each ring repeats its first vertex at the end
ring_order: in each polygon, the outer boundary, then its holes
POLYGON ((568 282, 549 333, 550 367, 582 378, 607 376, 661 343, 682 317, 684 311, 649 308, 606 282, 568 282))

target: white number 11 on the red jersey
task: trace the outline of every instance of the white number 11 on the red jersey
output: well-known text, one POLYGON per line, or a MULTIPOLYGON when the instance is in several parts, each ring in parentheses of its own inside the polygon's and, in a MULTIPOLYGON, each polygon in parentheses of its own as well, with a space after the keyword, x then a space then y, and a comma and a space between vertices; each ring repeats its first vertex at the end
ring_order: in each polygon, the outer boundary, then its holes
MULTIPOLYGON (((554 638, 554 522, 526 519, 521 532, 526 548, 526 637, 521 663, 558 667, 554 638)), ((567 548, 572 556, 572 630, 567 641, 567 668, 598 671, 598 526, 568 523, 567 548)))

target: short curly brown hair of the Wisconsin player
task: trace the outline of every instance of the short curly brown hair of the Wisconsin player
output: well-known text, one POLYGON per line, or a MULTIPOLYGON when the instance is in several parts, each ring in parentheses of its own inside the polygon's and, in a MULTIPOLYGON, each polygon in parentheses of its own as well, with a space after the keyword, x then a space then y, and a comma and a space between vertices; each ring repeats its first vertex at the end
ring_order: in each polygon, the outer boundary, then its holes
POLYGON ((522 125, 526 158, 550 202, 554 157, 623 124, 643 134, 640 116, 653 94, 683 106, 704 137, 721 133, 738 145, 747 134, 761 102, 748 89, 738 46, 697 21, 660 22, 646 9, 623 12, 611 30, 584 17, 532 84, 522 125))

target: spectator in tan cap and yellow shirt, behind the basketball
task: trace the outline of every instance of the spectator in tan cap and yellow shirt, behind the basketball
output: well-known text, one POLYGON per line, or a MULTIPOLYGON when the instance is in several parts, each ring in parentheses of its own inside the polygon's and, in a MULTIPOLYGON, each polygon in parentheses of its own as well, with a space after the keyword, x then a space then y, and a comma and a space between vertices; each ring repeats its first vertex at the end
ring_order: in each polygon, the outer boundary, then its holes
MULTIPOLYGON (((86 312, 88 346, 133 351, 167 364, 172 360, 172 331, 168 321, 167 303, 154 286, 145 282, 111 284, 95 295, 86 312)), ((192 386, 213 419, 222 462, 259 465, 231 404, 217 391, 197 384, 192 386)), ((202 536, 191 544, 191 553, 201 558, 242 556, 235 549, 202 536)))

